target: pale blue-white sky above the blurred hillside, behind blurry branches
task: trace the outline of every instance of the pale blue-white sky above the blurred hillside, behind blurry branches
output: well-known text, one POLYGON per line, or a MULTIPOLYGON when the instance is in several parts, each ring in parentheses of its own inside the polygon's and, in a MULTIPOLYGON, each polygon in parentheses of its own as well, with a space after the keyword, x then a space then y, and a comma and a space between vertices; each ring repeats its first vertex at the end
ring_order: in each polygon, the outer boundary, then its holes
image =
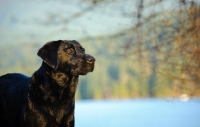
MULTIPOLYGON (((0 0, 0 43, 44 43, 57 39, 106 36, 130 28, 137 21, 136 14, 123 14, 137 12, 137 2, 133 0, 103 2, 80 17, 69 20, 68 17, 91 5, 80 1, 83 0, 0 0), (64 23, 66 19, 68 22, 64 23)), ((147 0, 145 5, 151 2, 147 0)), ((159 6, 145 9, 144 15, 176 8, 178 5, 174 3, 175 0, 165 0, 159 6)))

